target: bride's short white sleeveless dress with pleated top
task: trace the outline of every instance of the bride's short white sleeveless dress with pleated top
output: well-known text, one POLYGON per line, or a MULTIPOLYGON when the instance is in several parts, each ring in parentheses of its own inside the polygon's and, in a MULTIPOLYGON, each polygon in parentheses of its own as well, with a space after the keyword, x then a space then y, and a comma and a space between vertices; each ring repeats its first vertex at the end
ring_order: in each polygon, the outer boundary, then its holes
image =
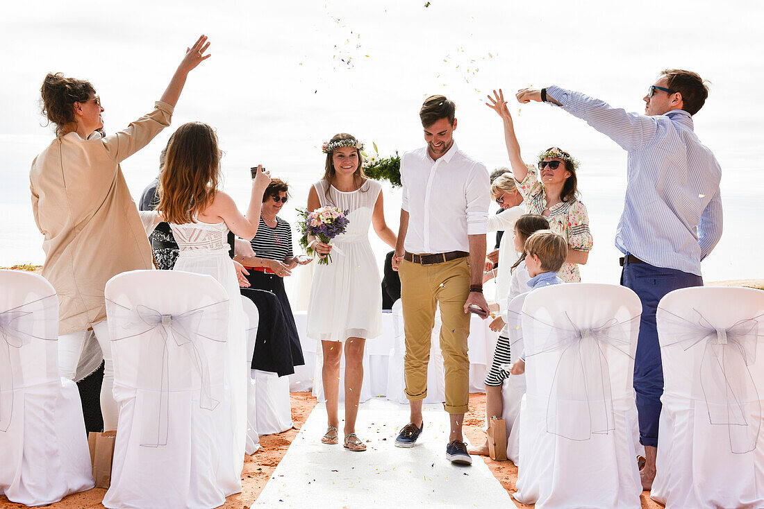
MULTIPOLYGON (((325 180, 313 184, 321 206, 349 210, 345 234, 331 244, 332 262, 319 265, 310 287, 308 337, 342 341, 371 339, 382 333, 382 286, 377 259, 369 243, 369 227, 382 185, 367 179, 356 191, 342 192, 325 180), (329 188, 329 199, 326 189, 329 188)), ((317 259, 316 259, 317 260, 317 259)))

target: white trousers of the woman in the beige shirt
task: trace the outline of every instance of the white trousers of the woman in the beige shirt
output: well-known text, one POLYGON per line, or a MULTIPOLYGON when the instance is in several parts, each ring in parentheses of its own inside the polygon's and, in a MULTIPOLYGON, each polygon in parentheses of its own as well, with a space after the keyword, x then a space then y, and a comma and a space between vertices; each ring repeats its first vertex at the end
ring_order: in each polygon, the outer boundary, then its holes
MULTIPOLYGON (((106 321, 93 325, 95 339, 98 340, 103 352, 104 370, 103 383, 101 385, 101 414, 103 415, 103 429, 112 431, 117 429, 119 408, 114 401, 112 391, 114 389, 114 365, 112 364, 111 338, 108 335, 106 321)), ((64 334, 58 338, 58 372, 65 379, 74 379, 82 356, 83 346, 87 337, 87 330, 78 330, 70 334, 64 334)))

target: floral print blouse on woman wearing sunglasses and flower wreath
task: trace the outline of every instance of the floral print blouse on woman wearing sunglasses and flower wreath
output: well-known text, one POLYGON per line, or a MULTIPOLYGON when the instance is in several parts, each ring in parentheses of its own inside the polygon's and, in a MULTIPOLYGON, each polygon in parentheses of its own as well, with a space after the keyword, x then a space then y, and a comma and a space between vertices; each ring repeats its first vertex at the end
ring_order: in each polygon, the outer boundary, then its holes
MULTIPOLYGON (((536 166, 526 166, 528 174, 523 182, 517 184, 517 188, 523 195, 527 213, 543 215, 542 212, 546 209, 544 185, 539 182, 536 166)), ((553 205, 549 208, 547 219, 549 219, 549 228, 562 234, 568 241, 569 249, 591 251, 593 241, 589 230, 589 214, 587 214, 586 206, 577 198, 553 205)), ((581 274, 578 272, 576 263, 563 263, 557 275, 566 283, 581 281, 581 274)))

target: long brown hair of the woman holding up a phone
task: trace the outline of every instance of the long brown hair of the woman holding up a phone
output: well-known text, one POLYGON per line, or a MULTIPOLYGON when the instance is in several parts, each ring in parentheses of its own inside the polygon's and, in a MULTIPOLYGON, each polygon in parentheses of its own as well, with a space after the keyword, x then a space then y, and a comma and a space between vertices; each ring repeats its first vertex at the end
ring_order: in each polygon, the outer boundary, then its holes
POLYGON ((218 192, 220 150, 215 130, 202 122, 178 127, 167 147, 159 179, 159 206, 164 221, 193 223, 218 192))

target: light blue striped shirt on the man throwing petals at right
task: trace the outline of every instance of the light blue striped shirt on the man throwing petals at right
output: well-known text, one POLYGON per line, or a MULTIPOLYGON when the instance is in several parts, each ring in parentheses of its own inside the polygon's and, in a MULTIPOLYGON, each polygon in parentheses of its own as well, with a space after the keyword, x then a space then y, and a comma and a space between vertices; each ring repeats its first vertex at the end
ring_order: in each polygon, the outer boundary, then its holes
POLYGON ((721 237, 721 168, 691 115, 627 113, 557 86, 546 94, 629 153, 616 247, 652 266, 701 275, 701 259, 721 237))

